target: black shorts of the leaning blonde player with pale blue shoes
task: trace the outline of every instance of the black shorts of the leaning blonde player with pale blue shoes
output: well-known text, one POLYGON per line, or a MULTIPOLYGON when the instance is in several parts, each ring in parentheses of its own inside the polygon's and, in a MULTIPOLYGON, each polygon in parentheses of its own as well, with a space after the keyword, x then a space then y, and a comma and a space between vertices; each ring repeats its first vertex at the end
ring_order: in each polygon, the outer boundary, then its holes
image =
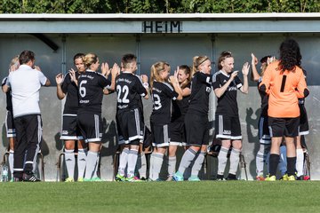
POLYGON ((187 113, 185 125, 188 146, 209 145, 209 120, 207 115, 187 113))

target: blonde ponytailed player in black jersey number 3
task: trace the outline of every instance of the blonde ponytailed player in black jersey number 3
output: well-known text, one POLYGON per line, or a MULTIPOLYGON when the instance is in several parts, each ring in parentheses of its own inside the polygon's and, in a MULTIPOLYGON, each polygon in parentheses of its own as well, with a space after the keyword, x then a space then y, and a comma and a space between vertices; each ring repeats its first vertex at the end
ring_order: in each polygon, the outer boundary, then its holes
POLYGON ((170 77, 169 74, 170 66, 167 63, 156 62, 151 67, 150 85, 153 110, 150 116, 150 126, 154 137, 153 146, 155 146, 155 150, 151 154, 149 169, 149 178, 152 181, 159 180, 164 153, 169 146, 168 125, 171 121, 171 99, 182 99, 177 73, 170 77))

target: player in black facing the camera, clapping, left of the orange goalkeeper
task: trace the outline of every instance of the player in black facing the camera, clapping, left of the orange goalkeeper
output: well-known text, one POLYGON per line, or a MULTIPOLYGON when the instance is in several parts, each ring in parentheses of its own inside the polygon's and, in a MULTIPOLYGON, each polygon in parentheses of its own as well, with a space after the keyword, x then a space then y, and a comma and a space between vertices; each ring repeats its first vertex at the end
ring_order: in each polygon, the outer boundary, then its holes
POLYGON ((218 106, 215 114, 216 137, 221 139, 221 149, 218 155, 218 180, 224 179, 224 171, 227 164, 227 155, 230 146, 230 169, 228 180, 236 180, 236 170, 239 164, 239 155, 242 149, 241 125, 239 121, 238 106, 236 102, 236 91, 240 90, 244 94, 249 91, 248 73, 249 63, 245 62, 242 68, 244 84, 237 76, 238 71, 234 69, 234 58, 229 51, 222 51, 218 59, 220 71, 212 77, 212 86, 218 106))

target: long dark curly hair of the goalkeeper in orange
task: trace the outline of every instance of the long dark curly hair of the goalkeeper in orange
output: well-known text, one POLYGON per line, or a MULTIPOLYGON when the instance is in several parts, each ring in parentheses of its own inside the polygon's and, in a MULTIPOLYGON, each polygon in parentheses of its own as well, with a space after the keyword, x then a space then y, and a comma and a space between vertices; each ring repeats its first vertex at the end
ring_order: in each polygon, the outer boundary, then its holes
POLYGON ((279 69, 282 73, 285 70, 290 72, 295 71, 295 66, 300 67, 301 59, 300 47, 295 40, 287 38, 281 43, 279 69))

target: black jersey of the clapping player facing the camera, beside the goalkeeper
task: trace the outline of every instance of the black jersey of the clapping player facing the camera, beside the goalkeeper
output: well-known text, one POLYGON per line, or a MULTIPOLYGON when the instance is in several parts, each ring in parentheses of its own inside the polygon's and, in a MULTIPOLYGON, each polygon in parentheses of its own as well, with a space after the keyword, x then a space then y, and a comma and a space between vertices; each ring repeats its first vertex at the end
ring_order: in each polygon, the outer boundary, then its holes
MULTIPOLYGON (((223 71, 218 71, 213 75, 212 87, 213 90, 222 87, 228 82, 231 75, 225 74, 223 71)), ((228 116, 238 116, 238 106, 236 102, 236 91, 243 86, 238 76, 229 84, 227 91, 218 98, 217 114, 223 114, 228 116)))

